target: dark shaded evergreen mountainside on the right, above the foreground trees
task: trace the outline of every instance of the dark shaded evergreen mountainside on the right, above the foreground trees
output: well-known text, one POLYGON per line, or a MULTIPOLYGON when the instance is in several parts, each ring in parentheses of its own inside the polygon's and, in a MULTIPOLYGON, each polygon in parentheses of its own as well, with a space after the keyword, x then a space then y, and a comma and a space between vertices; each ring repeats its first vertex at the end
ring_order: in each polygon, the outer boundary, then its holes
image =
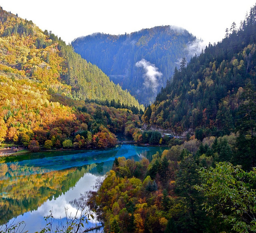
POLYGON ((174 71, 154 104, 146 109, 145 124, 177 133, 201 128, 204 136, 216 136, 233 132, 243 117, 255 121, 255 9, 239 29, 233 23, 221 42, 209 43, 187 65, 181 61, 180 69, 174 71), (247 103, 254 104, 251 112, 241 115, 247 103))

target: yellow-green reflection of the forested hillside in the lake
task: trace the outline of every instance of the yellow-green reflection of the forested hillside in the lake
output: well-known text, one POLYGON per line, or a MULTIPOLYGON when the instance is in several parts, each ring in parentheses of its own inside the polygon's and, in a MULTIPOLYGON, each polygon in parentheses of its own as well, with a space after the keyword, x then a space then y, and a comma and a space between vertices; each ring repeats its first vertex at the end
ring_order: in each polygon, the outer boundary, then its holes
POLYGON ((90 164, 44 174, 18 176, 21 171, 41 173, 42 169, 14 163, 0 164, 0 224, 37 209, 47 199, 52 200, 66 193, 85 173, 95 167, 96 164, 90 164))

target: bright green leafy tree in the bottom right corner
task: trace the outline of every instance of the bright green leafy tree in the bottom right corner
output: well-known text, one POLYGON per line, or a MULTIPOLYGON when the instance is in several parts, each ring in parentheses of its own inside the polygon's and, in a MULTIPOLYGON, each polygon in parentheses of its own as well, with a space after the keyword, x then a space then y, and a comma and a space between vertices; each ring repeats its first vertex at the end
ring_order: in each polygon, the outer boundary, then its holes
POLYGON ((202 168, 199 174, 204 182, 195 188, 206 197, 204 209, 224 219, 232 231, 255 232, 256 169, 244 172, 241 166, 219 162, 215 168, 202 168))

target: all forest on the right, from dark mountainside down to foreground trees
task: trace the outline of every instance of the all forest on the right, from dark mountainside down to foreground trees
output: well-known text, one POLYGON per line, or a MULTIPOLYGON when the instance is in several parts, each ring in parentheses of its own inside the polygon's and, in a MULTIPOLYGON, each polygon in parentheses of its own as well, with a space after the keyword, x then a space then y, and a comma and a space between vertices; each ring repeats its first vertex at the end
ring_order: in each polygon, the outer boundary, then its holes
POLYGON ((255 43, 256 6, 182 59, 142 119, 186 136, 161 138, 171 148, 151 158, 115 159, 90 203, 105 232, 256 232, 255 43))

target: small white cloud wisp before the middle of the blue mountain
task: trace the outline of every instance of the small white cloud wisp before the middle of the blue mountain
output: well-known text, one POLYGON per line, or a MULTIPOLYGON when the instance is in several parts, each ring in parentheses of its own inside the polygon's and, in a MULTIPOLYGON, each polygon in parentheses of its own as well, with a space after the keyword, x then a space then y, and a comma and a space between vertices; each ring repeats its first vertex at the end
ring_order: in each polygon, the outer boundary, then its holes
POLYGON ((143 67, 144 69, 145 74, 143 75, 143 85, 147 88, 151 87, 153 91, 156 91, 157 87, 159 86, 158 78, 160 78, 163 74, 158 71, 158 68, 154 64, 151 64, 145 59, 138 61, 136 63, 136 67, 143 67))

